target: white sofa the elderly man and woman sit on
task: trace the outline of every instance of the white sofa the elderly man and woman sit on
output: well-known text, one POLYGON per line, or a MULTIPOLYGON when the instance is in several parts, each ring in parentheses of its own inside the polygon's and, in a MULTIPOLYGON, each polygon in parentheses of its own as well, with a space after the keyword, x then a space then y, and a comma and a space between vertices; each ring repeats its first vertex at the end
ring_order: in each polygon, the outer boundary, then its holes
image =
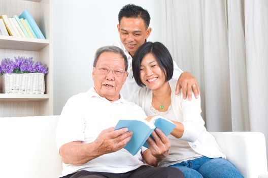
MULTIPOLYGON (((56 149, 58 116, 0 118, 0 177, 54 178, 60 175, 56 149)), ((257 132, 211 132, 245 178, 267 178, 265 140, 257 132)))

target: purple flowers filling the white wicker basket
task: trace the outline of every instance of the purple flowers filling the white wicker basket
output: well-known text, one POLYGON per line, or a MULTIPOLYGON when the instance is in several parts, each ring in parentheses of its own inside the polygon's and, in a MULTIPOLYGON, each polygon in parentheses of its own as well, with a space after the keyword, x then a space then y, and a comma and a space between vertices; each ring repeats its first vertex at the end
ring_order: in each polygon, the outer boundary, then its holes
POLYGON ((0 74, 22 73, 48 73, 48 67, 41 62, 33 62, 32 57, 15 57, 15 62, 10 58, 4 58, 0 65, 0 74))

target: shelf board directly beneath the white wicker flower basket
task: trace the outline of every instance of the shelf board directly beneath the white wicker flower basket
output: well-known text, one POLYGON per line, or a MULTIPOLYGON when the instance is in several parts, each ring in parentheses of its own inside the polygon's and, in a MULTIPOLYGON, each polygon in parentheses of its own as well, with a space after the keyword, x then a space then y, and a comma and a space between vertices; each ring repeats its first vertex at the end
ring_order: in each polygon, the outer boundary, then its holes
POLYGON ((48 94, 0 94, 0 101, 2 100, 46 100, 49 99, 48 94))

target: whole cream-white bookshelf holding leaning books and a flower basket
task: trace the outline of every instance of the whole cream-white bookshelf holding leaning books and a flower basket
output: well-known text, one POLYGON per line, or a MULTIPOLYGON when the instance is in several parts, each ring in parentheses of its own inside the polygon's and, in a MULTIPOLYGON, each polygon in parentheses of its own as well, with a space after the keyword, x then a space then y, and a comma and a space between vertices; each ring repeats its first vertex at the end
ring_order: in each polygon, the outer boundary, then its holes
POLYGON ((0 35, 0 61, 14 56, 33 57, 49 68, 45 94, 4 94, 0 78, 0 117, 53 115, 52 0, 1 0, 0 15, 18 16, 28 10, 46 39, 0 35))

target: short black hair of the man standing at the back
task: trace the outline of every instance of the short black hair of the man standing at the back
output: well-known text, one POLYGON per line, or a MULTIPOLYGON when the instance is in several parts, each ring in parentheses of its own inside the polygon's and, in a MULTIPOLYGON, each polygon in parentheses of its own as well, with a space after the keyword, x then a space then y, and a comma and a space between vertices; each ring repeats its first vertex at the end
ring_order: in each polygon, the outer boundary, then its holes
POLYGON ((133 4, 128 4, 122 7, 122 9, 120 10, 118 14, 119 25, 123 17, 142 18, 144 20, 146 28, 148 28, 150 24, 150 20, 151 20, 150 14, 148 13, 146 9, 143 9, 141 6, 136 6, 133 4))

